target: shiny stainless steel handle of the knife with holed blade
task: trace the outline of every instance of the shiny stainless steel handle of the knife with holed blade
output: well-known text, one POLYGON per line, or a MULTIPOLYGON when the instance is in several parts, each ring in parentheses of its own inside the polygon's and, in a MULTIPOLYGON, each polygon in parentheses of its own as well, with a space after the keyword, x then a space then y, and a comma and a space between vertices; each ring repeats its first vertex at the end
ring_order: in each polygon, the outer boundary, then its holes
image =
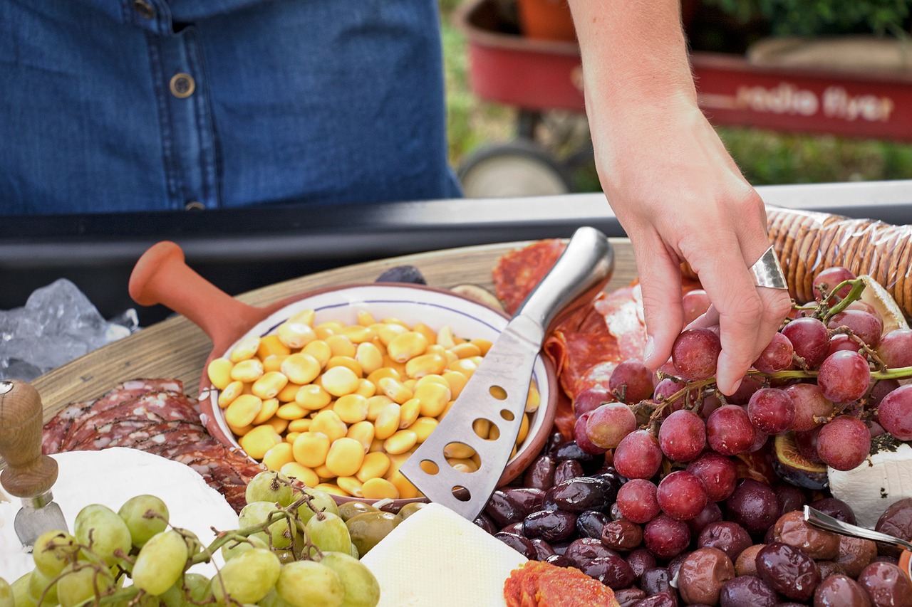
MULTIPOLYGON (((535 290, 529 294, 517 316, 525 316, 546 330, 559 311, 586 292, 601 291, 614 271, 615 257, 608 239, 588 226, 577 229, 560 259, 535 290)), ((589 302, 583 302, 588 304, 589 302)))

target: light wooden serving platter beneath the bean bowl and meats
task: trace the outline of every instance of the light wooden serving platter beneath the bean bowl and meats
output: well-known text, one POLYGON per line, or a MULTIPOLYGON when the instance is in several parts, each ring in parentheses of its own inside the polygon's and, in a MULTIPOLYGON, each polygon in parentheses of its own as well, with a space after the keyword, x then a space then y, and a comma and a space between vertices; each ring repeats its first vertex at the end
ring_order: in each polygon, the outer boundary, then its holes
MULTIPOLYGON (((630 241, 609 240, 614 247, 615 270, 606 285, 607 291, 637 277, 630 241)), ((403 264, 416 266, 429 284, 440 288, 475 283, 492 289, 492 268, 501 255, 526 244, 488 244, 358 263, 275 283, 238 295, 237 299, 251 305, 272 304, 319 287, 372 282, 390 267, 403 264)), ((211 350, 212 343, 199 327, 175 315, 37 377, 32 386, 41 395, 45 421, 68 403, 101 396, 120 382, 138 377, 179 379, 184 391, 196 396, 202 366, 211 350)))

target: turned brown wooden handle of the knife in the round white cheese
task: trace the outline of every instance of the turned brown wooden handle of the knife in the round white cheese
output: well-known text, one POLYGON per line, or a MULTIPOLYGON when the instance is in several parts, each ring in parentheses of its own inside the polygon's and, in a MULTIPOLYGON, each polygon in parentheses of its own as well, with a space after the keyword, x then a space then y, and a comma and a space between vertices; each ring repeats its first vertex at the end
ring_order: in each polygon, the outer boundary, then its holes
POLYGON ((41 455, 43 411, 37 390, 16 379, 0 381, 0 485, 17 498, 34 498, 54 486, 57 461, 41 455))

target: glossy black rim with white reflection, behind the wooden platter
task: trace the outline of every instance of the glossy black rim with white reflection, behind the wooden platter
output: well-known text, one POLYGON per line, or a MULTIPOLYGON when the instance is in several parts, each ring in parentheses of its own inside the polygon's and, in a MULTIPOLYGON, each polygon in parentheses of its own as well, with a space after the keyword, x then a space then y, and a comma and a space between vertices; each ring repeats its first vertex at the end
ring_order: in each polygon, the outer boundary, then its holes
MULTIPOLYGON (((758 188, 768 205, 912 222, 912 180, 758 188)), ((0 309, 67 278, 110 317, 135 307, 141 324, 161 306, 133 304, 133 264, 155 242, 183 248, 187 262, 227 293, 350 263, 495 242, 568 237, 591 225, 625 233, 600 193, 260 209, 7 216, 0 221, 0 309)))

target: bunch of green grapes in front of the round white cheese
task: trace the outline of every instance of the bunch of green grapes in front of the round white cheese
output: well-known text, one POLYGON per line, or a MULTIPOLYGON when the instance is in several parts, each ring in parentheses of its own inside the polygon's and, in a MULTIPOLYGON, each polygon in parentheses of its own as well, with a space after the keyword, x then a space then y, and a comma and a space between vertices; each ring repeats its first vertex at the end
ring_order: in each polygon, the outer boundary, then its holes
POLYGON ((270 471, 251 480, 245 498, 239 529, 217 531, 208 546, 171 526, 155 496, 131 498, 117 512, 91 504, 72 534, 36 540, 33 571, 12 583, 0 578, 0 607, 378 604, 378 581, 358 560, 332 496, 270 471), (189 571, 199 563, 215 573, 189 571))

